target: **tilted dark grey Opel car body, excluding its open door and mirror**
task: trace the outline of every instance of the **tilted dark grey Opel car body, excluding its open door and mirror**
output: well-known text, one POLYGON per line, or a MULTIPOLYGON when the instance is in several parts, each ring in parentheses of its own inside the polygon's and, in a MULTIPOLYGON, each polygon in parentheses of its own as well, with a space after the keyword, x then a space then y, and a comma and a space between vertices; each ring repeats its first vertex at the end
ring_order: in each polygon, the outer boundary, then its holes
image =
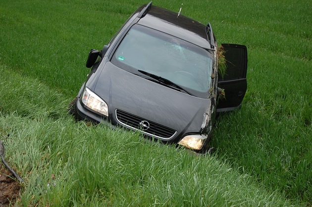
POLYGON ((216 42, 195 20, 156 6, 138 19, 142 9, 93 67, 76 115, 201 150, 215 118, 216 42))

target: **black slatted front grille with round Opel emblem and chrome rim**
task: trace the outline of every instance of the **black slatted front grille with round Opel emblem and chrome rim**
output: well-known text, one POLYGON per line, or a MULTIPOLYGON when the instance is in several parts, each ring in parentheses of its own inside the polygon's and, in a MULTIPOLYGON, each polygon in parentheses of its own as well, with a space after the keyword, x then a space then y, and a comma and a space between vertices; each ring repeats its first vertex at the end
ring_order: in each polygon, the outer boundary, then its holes
POLYGON ((128 126, 135 130, 139 130, 147 135, 154 136, 156 138, 170 139, 176 134, 176 131, 174 129, 157 124, 155 122, 151 122, 133 114, 121 111, 119 109, 116 109, 116 118, 120 124, 128 126), (150 124, 149 128, 146 127, 147 124, 150 124))

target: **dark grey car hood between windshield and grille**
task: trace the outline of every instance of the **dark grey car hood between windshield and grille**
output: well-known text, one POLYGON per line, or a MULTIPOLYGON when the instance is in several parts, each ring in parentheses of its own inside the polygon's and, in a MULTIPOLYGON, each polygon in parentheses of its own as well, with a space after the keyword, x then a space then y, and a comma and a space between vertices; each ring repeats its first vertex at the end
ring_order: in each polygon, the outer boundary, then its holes
MULTIPOLYGON (((88 84, 87 84, 88 86, 88 84)), ((91 86, 92 87, 92 86, 91 86)), ((129 73, 106 62, 94 92, 108 105, 115 124, 116 109, 177 131, 170 140, 199 133, 207 123, 210 99, 198 98, 129 73)))

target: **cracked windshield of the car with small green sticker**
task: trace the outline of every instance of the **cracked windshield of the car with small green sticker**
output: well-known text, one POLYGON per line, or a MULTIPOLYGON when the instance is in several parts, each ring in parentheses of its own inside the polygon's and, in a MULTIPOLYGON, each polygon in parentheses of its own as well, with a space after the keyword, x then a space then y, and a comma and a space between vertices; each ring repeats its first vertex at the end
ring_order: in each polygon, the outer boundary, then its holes
POLYGON ((112 58, 124 70, 155 74, 200 97, 207 97, 212 61, 207 50, 140 25, 129 30, 112 58))

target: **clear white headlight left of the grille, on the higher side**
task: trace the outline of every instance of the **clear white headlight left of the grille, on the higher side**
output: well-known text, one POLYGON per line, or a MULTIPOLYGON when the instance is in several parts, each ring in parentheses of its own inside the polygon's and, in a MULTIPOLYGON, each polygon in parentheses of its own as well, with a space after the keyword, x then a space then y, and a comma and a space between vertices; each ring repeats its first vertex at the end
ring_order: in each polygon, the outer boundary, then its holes
POLYGON ((92 92, 89 88, 85 88, 82 95, 82 103, 93 111, 99 112, 100 114, 108 117, 108 107, 105 101, 103 101, 98 95, 92 92))

